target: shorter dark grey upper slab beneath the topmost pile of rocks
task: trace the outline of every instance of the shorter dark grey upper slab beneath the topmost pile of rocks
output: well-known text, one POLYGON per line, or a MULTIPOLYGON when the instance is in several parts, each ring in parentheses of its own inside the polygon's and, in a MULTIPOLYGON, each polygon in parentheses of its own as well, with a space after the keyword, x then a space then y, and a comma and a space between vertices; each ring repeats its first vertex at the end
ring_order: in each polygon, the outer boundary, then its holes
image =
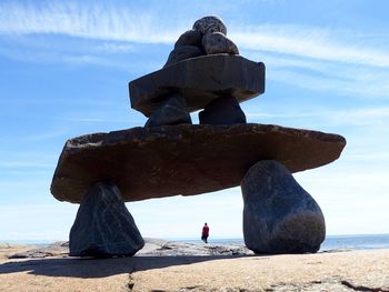
POLYGON ((136 79, 129 90, 131 108, 146 117, 174 92, 186 98, 191 112, 226 94, 242 102, 263 93, 265 64, 241 56, 201 56, 136 79))

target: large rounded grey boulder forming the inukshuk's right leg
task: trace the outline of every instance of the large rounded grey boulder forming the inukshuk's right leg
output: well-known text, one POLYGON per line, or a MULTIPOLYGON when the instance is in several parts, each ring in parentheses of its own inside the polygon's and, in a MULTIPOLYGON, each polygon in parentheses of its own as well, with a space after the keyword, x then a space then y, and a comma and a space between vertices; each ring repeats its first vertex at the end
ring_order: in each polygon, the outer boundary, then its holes
POLYGON ((326 238, 320 207, 273 160, 260 161, 246 173, 243 236, 255 253, 317 252, 326 238))

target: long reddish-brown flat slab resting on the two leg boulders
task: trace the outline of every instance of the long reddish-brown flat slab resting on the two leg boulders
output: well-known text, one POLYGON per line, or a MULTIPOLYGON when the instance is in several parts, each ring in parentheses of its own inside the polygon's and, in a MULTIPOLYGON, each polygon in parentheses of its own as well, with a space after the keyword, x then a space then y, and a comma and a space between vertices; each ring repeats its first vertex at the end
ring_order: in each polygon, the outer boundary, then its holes
POLYGON ((192 195, 239 185, 260 160, 290 172, 339 158, 341 135, 271 124, 180 124, 132 128, 68 140, 51 193, 79 203, 98 181, 117 184, 124 201, 192 195))

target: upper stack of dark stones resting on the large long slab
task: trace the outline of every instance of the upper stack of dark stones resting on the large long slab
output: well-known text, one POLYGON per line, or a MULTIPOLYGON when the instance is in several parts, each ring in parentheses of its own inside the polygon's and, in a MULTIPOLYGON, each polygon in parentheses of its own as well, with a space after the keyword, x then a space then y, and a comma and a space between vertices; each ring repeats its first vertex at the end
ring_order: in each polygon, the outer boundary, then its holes
POLYGON ((265 91, 265 64, 239 56, 217 17, 205 17, 182 33, 163 70, 130 82, 131 105, 149 117, 144 127, 246 123, 239 102, 265 91))

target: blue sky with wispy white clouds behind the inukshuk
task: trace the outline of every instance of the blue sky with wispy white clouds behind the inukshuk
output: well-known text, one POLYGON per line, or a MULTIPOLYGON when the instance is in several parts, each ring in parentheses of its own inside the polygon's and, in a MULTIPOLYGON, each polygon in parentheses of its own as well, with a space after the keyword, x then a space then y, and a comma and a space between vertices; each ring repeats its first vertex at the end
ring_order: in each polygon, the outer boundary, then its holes
MULTIPOLYGON (((389 233, 389 2, 0 2, 0 240, 66 240, 78 205, 49 188, 64 141, 143 125, 128 82, 160 69, 177 38, 221 17, 240 53, 267 66, 249 122, 342 134, 339 160, 295 178, 328 234, 389 233)), ((196 114, 192 114, 197 121, 196 114)), ((128 203, 144 236, 240 238, 239 188, 128 203)))

